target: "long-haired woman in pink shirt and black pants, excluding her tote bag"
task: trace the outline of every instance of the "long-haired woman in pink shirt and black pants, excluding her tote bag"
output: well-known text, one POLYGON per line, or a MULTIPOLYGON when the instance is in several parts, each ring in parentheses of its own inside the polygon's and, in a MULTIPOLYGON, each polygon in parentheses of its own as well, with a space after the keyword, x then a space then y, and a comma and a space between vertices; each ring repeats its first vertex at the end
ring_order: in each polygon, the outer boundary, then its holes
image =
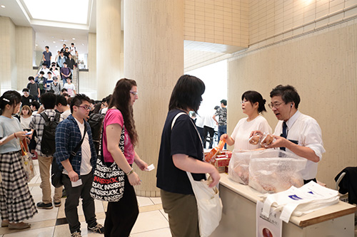
POLYGON ((138 99, 138 89, 135 80, 123 78, 116 83, 113 96, 109 102, 103 126, 103 152, 105 162, 116 162, 126 176, 124 177, 124 195, 116 202, 109 202, 104 223, 105 236, 130 235, 136 218, 139 215, 138 201, 134 185, 141 180, 131 167, 135 164, 144 170, 148 166, 136 154, 134 147, 138 143, 135 129, 133 105, 138 99), (125 126, 124 126, 125 125, 125 126), (124 126, 124 154, 119 148, 121 130, 124 126))

